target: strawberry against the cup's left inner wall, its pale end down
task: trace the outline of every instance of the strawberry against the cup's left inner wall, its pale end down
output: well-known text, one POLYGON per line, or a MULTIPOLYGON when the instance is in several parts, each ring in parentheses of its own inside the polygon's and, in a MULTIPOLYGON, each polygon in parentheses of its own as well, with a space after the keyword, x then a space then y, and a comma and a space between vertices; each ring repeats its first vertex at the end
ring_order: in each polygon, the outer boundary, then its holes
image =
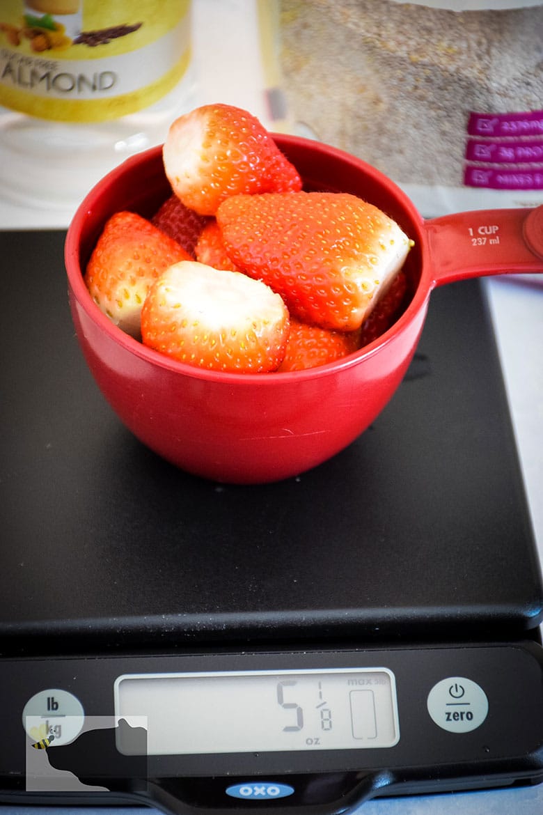
POLYGON ((153 280, 180 260, 182 246, 133 212, 112 215, 85 270, 91 297, 113 323, 133 337, 140 332, 142 304, 153 280))

